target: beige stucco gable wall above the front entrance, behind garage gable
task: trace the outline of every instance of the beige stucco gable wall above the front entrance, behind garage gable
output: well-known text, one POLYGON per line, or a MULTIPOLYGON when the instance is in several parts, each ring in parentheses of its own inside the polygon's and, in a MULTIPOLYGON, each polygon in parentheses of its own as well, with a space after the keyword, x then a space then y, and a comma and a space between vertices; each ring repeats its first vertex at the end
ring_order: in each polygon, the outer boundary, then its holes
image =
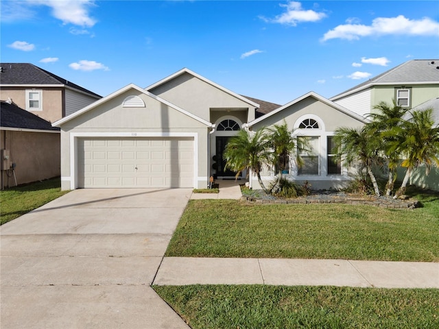
POLYGON ((254 119, 254 107, 250 104, 189 73, 183 73, 150 92, 207 121, 210 120, 210 108, 245 109, 246 122, 254 119))

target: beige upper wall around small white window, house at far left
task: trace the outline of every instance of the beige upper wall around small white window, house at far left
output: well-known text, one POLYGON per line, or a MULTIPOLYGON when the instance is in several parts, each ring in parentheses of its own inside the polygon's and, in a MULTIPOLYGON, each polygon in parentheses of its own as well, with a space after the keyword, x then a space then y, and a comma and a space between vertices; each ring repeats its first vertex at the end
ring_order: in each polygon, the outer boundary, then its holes
POLYGON ((12 88, 2 87, 0 89, 0 99, 5 101, 10 97, 12 101, 26 110, 26 91, 25 90, 43 90, 43 110, 29 111, 36 114, 49 122, 55 122, 62 118, 62 88, 12 88))

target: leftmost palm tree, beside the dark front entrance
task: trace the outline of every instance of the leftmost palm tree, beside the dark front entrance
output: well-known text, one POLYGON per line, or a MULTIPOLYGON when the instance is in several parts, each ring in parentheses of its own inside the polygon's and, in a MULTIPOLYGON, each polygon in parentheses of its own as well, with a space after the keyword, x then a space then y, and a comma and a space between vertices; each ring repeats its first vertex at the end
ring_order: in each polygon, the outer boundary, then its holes
POLYGON ((265 193, 270 193, 261 179, 263 165, 271 163, 272 151, 268 143, 266 130, 260 129, 256 132, 248 130, 239 130, 238 134, 231 137, 224 150, 224 160, 226 160, 226 169, 233 170, 239 174, 250 169, 256 173, 258 182, 265 193))

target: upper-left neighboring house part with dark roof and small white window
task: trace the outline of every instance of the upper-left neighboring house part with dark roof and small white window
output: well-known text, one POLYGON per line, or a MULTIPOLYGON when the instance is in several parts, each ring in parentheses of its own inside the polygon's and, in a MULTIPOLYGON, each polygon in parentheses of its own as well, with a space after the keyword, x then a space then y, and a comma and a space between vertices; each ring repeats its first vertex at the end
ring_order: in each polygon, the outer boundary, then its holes
POLYGON ((0 63, 0 99, 54 122, 101 96, 29 63, 0 63))

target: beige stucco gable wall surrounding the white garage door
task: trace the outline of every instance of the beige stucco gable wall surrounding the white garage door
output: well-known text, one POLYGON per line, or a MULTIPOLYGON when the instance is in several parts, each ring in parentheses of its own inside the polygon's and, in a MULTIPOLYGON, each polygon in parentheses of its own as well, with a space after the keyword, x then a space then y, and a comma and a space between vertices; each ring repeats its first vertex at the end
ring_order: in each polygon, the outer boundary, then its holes
MULTIPOLYGON (((70 177, 70 146, 71 133, 108 133, 140 136, 144 133, 181 133, 196 134, 198 139, 198 177, 206 177, 200 180, 202 187, 207 186, 207 149, 209 128, 204 123, 197 121, 187 114, 183 114, 174 108, 157 101, 137 90, 130 90, 114 99, 81 114, 61 125, 61 176, 70 177), (126 97, 136 95, 145 102, 145 108, 123 108, 122 103, 126 97)), ((62 182, 63 189, 68 183, 62 182)))

